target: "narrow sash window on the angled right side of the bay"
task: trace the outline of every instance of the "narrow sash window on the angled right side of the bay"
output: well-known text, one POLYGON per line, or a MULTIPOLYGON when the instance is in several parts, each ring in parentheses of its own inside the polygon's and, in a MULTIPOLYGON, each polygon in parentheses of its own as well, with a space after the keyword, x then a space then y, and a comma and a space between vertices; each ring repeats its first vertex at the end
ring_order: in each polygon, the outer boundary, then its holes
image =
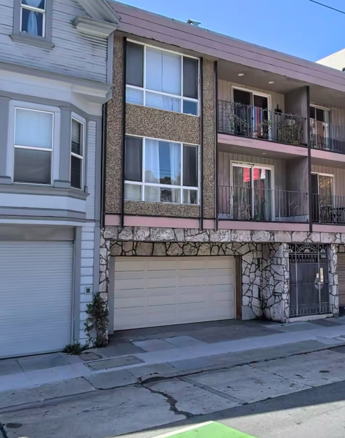
POLYGON ((72 117, 71 120, 71 187, 84 190, 85 124, 72 117))

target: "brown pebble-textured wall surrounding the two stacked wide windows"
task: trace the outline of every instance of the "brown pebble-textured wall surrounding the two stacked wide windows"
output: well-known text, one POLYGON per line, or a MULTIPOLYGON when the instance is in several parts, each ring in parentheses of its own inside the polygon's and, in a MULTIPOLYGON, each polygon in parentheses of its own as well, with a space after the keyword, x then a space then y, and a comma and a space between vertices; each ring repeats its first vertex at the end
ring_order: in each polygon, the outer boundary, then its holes
MULTIPOLYGON (((105 212, 121 212, 123 39, 115 38, 113 99, 108 103, 105 212)), ((204 217, 215 212, 215 83, 214 64, 203 62, 203 205, 204 217)), ((200 144, 200 118, 126 104, 126 134, 200 144)), ((175 217, 200 216, 199 205, 125 201, 125 213, 175 217)))

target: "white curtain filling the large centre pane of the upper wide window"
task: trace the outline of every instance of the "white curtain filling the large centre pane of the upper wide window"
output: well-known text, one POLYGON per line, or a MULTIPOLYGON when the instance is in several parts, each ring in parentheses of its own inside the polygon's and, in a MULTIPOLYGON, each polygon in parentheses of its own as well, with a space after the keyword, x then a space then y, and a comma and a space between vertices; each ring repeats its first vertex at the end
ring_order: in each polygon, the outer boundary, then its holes
POLYGON ((181 56, 147 47, 146 88, 181 95, 181 56))

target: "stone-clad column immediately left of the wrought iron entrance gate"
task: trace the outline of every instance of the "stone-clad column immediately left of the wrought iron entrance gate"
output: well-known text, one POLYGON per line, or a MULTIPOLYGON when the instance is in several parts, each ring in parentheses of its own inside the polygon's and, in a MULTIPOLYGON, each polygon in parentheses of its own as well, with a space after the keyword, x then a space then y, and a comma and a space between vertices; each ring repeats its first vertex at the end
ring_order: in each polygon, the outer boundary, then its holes
POLYGON ((289 251, 287 243, 262 244, 262 307, 272 321, 289 319, 289 251))

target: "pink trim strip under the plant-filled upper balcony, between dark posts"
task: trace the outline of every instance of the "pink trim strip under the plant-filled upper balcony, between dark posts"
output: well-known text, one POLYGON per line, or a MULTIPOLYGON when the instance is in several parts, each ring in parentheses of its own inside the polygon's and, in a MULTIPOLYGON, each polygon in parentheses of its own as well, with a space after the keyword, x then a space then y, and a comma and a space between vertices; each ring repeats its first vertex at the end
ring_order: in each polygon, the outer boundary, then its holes
POLYGON ((295 145, 284 145, 274 141, 263 141, 257 138, 237 137, 236 135, 218 134, 218 143, 233 146, 243 146, 244 148, 253 148, 271 152, 280 152, 284 154, 308 156, 308 148, 295 145))

